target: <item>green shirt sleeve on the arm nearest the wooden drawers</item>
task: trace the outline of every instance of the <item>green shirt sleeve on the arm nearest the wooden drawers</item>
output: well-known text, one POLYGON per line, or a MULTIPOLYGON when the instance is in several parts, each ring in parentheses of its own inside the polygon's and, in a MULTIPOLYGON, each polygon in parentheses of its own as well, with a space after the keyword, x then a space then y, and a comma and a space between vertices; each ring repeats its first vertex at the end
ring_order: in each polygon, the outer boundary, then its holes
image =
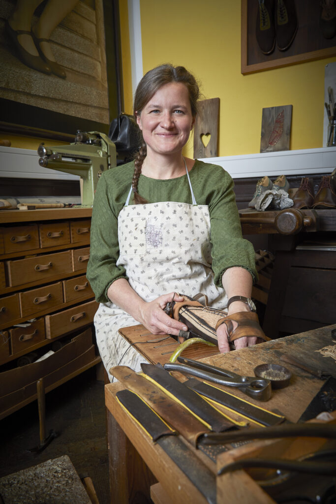
POLYGON ((98 302, 107 302, 107 289, 117 278, 127 278, 125 269, 117 267, 119 257, 118 218, 113 208, 112 189, 104 174, 95 193, 87 278, 98 302))

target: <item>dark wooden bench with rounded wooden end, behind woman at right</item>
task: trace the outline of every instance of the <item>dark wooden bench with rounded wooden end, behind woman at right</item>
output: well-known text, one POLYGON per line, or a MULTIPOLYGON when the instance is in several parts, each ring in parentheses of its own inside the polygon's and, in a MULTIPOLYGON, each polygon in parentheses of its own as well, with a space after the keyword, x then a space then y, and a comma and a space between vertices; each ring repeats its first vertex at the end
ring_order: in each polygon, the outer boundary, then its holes
POLYGON ((239 212, 243 233, 267 234, 275 254, 262 325, 270 338, 336 321, 336 209, 297 212, 239 212))

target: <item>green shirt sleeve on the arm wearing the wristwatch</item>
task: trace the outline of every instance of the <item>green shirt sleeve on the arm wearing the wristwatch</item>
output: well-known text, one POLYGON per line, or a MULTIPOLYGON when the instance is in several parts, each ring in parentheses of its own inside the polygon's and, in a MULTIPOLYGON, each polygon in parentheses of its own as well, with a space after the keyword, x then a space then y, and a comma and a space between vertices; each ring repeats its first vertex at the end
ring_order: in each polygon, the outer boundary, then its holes
POLYGON ((223 273, 233 266, 248 270, 253 281, 258 278, 253 245, 242 236, 233 180, 225 170, 221 178, 209 205, 213 244, 212 268, 215 283, 219 287, 222 287, 223 273))

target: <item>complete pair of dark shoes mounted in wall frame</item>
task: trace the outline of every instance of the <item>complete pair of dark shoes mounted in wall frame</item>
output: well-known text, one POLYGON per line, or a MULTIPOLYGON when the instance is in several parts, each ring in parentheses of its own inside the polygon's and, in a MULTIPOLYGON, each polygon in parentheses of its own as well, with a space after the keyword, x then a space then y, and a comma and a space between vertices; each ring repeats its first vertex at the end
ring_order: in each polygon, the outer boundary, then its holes
POLYGON ((298 29, 294 0, 258 0, 258 2, 255 36, 261 51, 264 54, 271 54, 276 41, 278 49, 285 51, 293 42, 298 29))

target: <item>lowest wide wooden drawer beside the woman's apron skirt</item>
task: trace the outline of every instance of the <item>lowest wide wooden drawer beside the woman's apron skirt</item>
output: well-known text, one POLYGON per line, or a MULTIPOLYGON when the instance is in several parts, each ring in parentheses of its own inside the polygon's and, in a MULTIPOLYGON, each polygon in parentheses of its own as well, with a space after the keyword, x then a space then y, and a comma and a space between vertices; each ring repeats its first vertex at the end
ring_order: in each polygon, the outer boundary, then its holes
POLYGON ((45 332, 49 339, 74 331, 93 322, 98 309, 96 301, 74 306, 45 317, 45 332))

